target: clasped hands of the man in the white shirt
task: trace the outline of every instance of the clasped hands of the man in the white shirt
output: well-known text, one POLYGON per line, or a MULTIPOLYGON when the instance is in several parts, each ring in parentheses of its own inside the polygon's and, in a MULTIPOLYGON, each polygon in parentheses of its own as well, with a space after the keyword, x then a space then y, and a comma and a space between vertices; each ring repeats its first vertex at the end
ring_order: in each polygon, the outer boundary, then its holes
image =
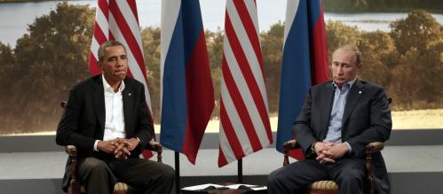
POLYGON ((107 153, 113 153, 116 159, 127 159, 138 146, 138 139, 116 138, 114 140, 99 141, 97 149, 107 153))

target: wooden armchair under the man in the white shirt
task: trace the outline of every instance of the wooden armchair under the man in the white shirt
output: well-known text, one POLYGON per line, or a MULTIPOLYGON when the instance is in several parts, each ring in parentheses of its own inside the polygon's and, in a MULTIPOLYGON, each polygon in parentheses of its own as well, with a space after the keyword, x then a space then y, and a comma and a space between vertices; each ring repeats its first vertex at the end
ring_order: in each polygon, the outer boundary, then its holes
MULTIPOLYGON (((67 102, 62 101, 60 106, 62 108, 67 105, 67 102)), ((151 141, 146 148, 150 151, 157 152, 157 162, 162 163, 162 144, 158 142, 151 141)), ((69 188, 67 189, 68 194, 84 194, 86 191, 84 190, 83 185, 77 179, 77 149, 75 145, 67 145, 65 146, 65 151, 67 155, 70 156, 71 159, 71 182, 69 182, 69 188)), ((114 194, 126 194, 128 190, 130 190, 130 186, 124 182, 117 182, 114 185, 114 194)))

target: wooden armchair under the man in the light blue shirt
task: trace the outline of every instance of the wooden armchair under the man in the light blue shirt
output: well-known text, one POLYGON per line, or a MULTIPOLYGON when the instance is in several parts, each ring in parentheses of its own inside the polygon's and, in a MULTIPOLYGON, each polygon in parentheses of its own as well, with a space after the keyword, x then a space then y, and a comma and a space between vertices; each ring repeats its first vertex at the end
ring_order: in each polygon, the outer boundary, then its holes
MULTIPOLYGON (((297 140, 293 139, 285 144, 283 144, 285 156, 283 161, 283 166, 289 165, 289 151, 300 148, 300 145, 297 144, 297 140)), ((374 164, 372 159, 372 154, 377 151, 382 151, 384 149, 383 142, 374 142, 370 143, 366 146, 366 184, 365 184, 365 193, 374 194, 376 191, 375 183, 374 183, 374 164)), ((310 194, 338 194, 338 186, 334 181, 319 181, 313 182, 309 186, 310 194)))

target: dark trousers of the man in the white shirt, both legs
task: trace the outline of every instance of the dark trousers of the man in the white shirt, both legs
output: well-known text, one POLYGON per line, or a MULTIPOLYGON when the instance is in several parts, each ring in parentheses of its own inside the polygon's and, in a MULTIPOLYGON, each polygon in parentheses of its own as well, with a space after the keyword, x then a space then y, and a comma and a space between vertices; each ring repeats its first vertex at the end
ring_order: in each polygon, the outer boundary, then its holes
POLYGON ((125 182, 135 193, 170 193, 174 185, 172 167, 149 159, 80 159, 78 175, 87 193, 110 194, 115 182, 125 182))

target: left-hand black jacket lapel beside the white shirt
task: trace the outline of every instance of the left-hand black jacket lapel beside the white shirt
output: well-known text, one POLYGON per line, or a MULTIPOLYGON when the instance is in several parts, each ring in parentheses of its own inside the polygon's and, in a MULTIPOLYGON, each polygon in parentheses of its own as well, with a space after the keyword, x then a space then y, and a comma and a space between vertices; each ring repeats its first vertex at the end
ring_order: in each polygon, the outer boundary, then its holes
POLYGON ((92 92, 92 105, 94 106, 94 112, 99 120, 100 127, 105 129, 105 90, 103 89, 103 81, 101 76, 95 80, 93 86, 94 92, 92 92))

